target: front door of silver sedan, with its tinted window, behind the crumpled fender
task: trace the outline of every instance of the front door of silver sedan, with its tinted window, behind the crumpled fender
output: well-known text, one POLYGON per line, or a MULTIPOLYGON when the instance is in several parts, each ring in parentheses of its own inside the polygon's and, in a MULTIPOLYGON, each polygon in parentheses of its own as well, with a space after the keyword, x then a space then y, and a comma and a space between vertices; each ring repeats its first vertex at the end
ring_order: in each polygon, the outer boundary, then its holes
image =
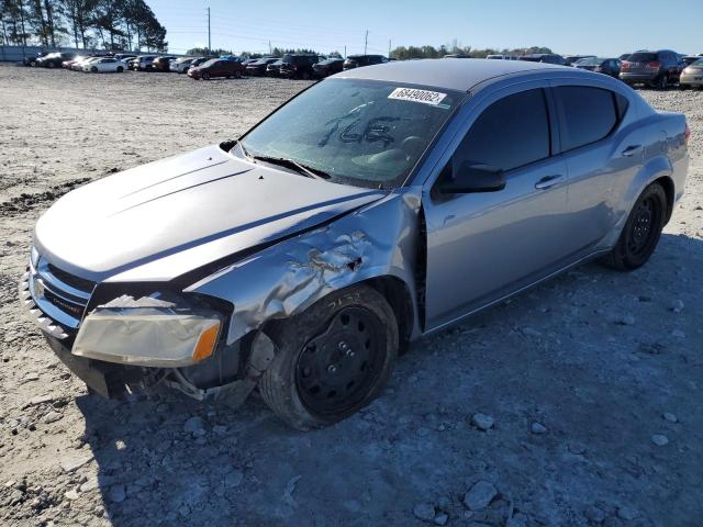
POLYGON ((453 139, 460 142, 440 161, 444 168, 423 198, 427 329, 548 274, 565 258, 566 164, 551 155, 548 106, 539 82, 491 94, 471 111, 468 132, 453 139), (503 169, 505 188, 438 193, 443 178, 466 160, 503 169))

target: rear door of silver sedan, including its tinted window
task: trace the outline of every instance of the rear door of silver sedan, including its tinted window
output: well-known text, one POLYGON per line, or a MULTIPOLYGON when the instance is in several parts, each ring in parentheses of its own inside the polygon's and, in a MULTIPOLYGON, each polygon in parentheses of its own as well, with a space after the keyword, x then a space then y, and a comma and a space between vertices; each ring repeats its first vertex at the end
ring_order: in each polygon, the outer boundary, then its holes
POLYGON ((569 178, 565 244, 590 254, 620 218, 618 198, 641 167, 645 138, 620 130, 627 99, 615 91, 572 81, 555 83, 553 93, 569 178))

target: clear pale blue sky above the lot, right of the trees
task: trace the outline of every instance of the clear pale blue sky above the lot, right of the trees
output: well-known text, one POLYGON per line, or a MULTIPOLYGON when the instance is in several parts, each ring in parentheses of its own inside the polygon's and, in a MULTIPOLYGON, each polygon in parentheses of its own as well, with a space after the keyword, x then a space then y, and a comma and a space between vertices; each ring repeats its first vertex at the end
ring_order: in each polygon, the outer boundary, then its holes
POLYGON ((703 0, 147 0, 168 30, 169 49, 207 46, 265 52, 272 46, 321 53, 388 53, 392 46, 451 44, 475 48, 548 46, 561 54, 617 56, 644 48, 703 53, 703 0))

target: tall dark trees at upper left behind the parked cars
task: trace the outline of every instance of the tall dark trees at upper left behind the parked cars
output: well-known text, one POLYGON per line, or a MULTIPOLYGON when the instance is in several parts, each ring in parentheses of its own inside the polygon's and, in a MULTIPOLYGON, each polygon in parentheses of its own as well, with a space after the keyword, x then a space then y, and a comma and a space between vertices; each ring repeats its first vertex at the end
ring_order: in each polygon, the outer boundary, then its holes
POLYGON ((158 51, 166 27, 143 0, 0 0, 4 45, 158 51))

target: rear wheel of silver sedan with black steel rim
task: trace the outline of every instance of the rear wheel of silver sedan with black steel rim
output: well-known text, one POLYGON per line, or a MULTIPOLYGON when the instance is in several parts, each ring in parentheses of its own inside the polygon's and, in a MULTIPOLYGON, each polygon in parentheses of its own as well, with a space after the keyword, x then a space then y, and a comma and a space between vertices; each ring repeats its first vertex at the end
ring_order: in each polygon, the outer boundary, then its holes
POLYGON ((637 198, 617 244, 602 262, 621 271, 645 265, 659 243, 667 212, 667 193, 659 183, 651 183, 637 198))

